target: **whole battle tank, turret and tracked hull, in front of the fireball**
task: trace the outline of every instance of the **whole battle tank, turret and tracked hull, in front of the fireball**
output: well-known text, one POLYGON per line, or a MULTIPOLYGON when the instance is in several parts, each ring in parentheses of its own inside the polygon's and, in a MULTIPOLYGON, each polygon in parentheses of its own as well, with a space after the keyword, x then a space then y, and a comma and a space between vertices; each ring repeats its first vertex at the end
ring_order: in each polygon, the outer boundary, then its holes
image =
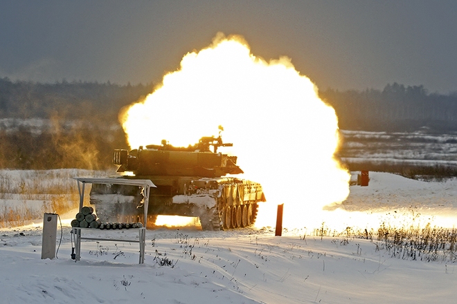
MULTIPOLYGON (((258 202, 265 202, 257 182, 234 178, 243 173, 237 157, 218 153, 222 137, 201 137, 188 147, 140 146, 116 149, 113 162, 119 178, 151 180, 147 225, 159 215, 198 217, 204 230, 248 227, 256 221, 258 202), (210 148, 213 148, 213 151, 210 148), (130 174, 125 174, 130 173, 130 174), (133 174, 132 174, 133 173, 133 174)), ((90 203, 98 217, 107 222, 143 221, 143 195, 134 186, 92 184, 90 203)))

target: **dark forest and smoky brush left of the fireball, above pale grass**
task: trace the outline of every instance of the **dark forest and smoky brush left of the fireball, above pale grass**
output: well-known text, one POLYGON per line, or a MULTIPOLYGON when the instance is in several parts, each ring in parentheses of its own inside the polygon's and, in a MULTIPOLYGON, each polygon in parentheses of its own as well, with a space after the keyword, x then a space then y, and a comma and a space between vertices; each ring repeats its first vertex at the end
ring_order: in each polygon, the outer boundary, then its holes
POLYGON ((41 118, 41 131, 0 124, 0 169, 107 169, 115 148, 127 148, 118 122, 121 108, 153 84, 12 82, 0 79, 0 119, 41 118))

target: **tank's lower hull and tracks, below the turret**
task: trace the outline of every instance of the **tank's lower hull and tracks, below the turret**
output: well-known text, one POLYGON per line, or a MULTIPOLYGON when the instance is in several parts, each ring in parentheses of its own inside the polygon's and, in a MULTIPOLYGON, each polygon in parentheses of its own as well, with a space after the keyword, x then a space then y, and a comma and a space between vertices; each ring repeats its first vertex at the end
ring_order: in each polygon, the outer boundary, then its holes
MULTIPOLYGON (((136 175, 118 178, 151 180, 148 226, 156 216, 198 217, 204 230, 249 227, 256 221, 258 202, 265 202, 257 182, 233 177, 136 175)), ((141 221, 143 195, 138 187, 93 184, 90 202, 107 222, 141 221)))

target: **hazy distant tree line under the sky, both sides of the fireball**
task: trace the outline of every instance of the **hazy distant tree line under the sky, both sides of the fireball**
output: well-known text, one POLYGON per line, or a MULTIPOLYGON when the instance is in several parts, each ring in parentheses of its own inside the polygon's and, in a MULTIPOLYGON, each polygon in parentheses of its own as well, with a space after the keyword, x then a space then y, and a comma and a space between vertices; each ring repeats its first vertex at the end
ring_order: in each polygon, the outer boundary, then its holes
MULTIPOLYGON (((52 116, 66 120, 96 118, 116 123, 120 108, 153 91, 153 84, 98 82, 12 82, 0 78, 0 118, 52 116)), ((457 130, 457 91, 428 93, 424 86, 387 84, 382 90, 319 91, 333 106, 345 130, 411 131, 423 126, 457 130)))

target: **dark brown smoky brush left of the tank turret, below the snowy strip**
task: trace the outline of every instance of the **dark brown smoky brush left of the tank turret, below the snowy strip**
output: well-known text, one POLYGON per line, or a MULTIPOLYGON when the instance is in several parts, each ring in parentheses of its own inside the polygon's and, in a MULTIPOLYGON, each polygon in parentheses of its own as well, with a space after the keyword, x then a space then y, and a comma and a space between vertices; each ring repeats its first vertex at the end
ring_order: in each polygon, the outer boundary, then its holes
POLYGON ((120 128, 102 124, 64 126, 37 133, 20 126, 15 131, 0 130, 0 169, 115 169, 113 149, 126 148, 120 128))

